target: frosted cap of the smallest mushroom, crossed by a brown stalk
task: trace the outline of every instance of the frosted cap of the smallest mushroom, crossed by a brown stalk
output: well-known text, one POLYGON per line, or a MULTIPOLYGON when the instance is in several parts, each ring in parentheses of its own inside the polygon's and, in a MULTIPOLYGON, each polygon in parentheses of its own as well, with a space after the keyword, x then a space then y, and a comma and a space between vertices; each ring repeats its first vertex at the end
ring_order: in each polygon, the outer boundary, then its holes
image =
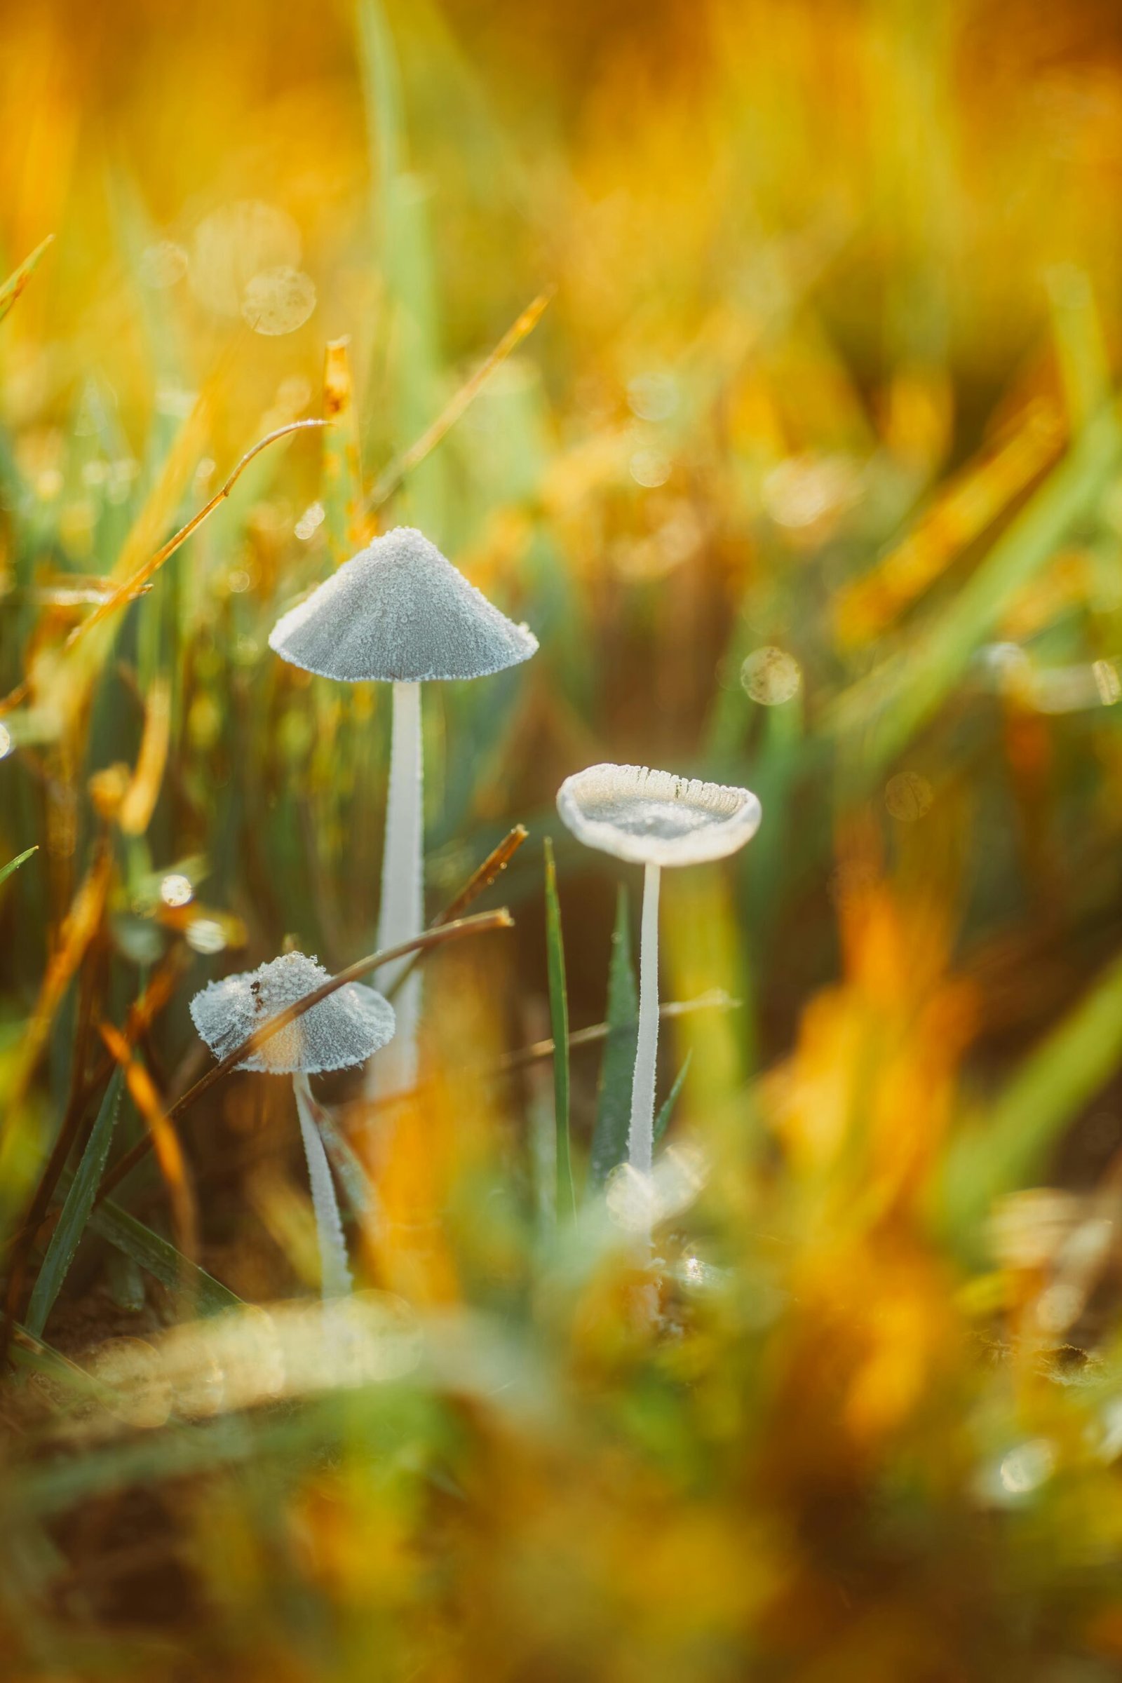
MULTIPOLYGON (((257 969, 210 981, 190 1001, 195 1028, 222 1059, 267 1017, 315 993, 328 971, 306 953, 284 953, 257 969)), ((350 983, 320 1000, 237 1065, 269 1075, 315 1075, 363 1064, 394 1038, 394 1006, 373 988, 350 983)))

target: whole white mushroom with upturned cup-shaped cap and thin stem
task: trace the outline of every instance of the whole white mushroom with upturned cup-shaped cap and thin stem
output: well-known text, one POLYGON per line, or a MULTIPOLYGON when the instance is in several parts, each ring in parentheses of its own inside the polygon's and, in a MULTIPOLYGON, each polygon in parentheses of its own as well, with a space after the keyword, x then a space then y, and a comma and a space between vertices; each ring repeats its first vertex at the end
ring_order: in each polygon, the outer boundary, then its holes
POLYGON ((676 778, 646 766, 589 766, 565 778, 557 811, 579 842, 646 867, 639 936, 639 1040, 627 1160, 651 1173, 658 1052, 658 889, 663 865, 725 858, 750 842, 760 803, 750 789, 676 778))

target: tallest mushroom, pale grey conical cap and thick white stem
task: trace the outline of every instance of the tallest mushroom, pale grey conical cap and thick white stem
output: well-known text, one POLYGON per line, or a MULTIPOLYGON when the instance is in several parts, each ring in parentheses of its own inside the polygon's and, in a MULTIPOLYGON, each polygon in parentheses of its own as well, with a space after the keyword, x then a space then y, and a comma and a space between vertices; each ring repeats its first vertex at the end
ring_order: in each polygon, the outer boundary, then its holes
MULTIPOLYGON (((394 685, 380 948, 412 941, 424 924, 421 685, 483 678, 537 646, 527 626, 501 614, 412 527, 375 537, 273 628, 269 648, 304 672, 394 685)), ((384 966, 378 986, 394 986, 407 964, 384 966)), ((385 1060, 378 1067, 384 1091, 415 1082, 419 1013, 421 971, 412 968, 397 996, 392 1069, 385 1060)))

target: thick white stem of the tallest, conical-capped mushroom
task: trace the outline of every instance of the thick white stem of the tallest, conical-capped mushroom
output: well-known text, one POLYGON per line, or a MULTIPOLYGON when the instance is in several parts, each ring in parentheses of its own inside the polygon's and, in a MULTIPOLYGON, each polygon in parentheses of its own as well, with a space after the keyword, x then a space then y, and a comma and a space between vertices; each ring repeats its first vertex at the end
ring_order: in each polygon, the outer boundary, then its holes
MULTIPOLYGON (((394 685, 394 730, 390 742, 390 789, 385 808, 385 850, 382 853, 382 905, 378 946, 400 946, 424 927, 424 820, 422 820, 421 685, 394 685)), ((407 966, 397 959, 377 971, 375 986, 384 993, 407 966)), ((421 969, 414 966, 395 998, 397 1033, 378 1064, 367 1064, 367 1096, 400 1092, 417 1084, 417 1023, 421 1018, 421 969)))

